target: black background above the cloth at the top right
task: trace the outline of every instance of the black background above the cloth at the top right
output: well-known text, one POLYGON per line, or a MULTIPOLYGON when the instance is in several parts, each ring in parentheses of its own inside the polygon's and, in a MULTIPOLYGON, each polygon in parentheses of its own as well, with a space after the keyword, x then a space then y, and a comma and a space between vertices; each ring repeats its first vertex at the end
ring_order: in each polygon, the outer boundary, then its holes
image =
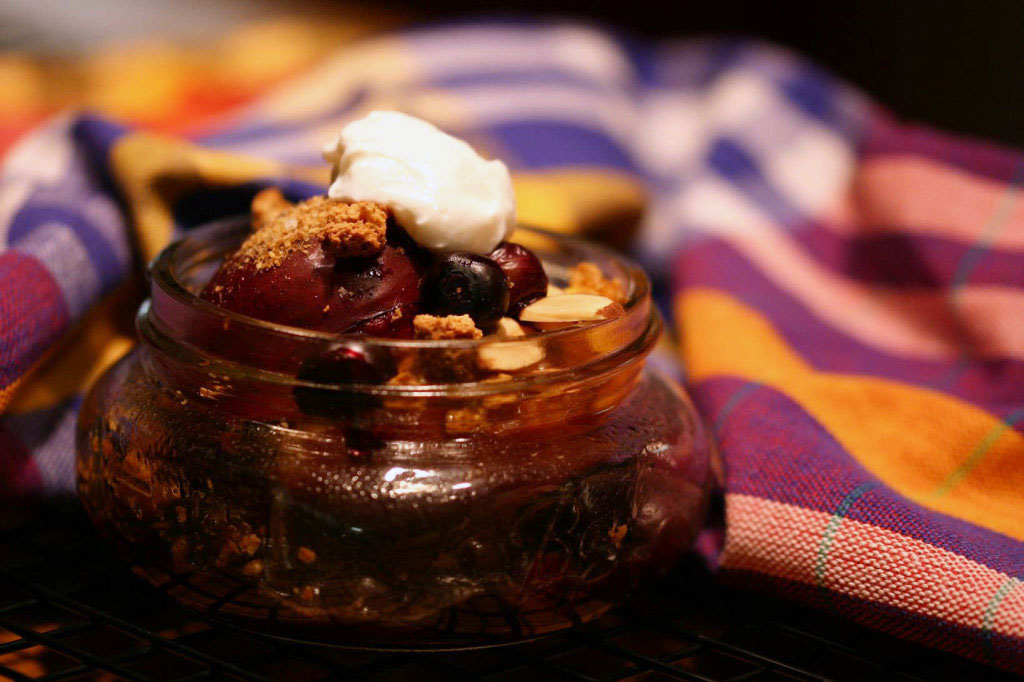
POLYGON ((761 37, 809 55, 902 118, 1024 147, 1024 0, 431 4, 444 15, 496 9, 590 17, 659 38, 761 37))

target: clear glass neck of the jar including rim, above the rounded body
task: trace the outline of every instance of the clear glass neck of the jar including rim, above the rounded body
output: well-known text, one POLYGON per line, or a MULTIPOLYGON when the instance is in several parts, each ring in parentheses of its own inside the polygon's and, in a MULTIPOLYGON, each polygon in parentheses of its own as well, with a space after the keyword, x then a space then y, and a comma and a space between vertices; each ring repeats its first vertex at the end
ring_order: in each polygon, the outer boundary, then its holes
MULTIPOLYGON (((136 318, 139 336, 159 357, 181 371, 214 376, 210 374, 214 368, 209 366, 218 364, 221 376, 228 372, 272 384, 343 388, 382 395, 438 392, 483 395, 527 384, 546 385, 613 372, 645 357, 660 335, 660 315, 651 301, 650 283, 639 265, 605 247, 531 228, 518 232, 517 242, 528 243, 557 283, 567 280, 568 269, 585 260, 594 261, 625 280, 629 296, 625 314, 512 339, 444 341, 334 334, 249 317, 225 310, 197 294, 222 257, 248 233, 248 216, 237 216, 189 230, 151 264, 150 299, 142 304, 136 318), (440 364, 458 371, 446 374, 445 378, 435 377, 432 379, 435 383, 341 384, 299 378, 308 363, 330 356, 340 346, 357 346, 391 379, 403 376, 402 367, 440 364), (527 346, 532 347, 526 351, 527 346), (510 356, 515 361, 523 357, 538 359, 503 372, 494 360, 496 356, 498 363, 508 361, 510 356), (493 380, 503 374, 501 381, 493 380)), ((418 380, 422 381, 422 377, 418 380)))

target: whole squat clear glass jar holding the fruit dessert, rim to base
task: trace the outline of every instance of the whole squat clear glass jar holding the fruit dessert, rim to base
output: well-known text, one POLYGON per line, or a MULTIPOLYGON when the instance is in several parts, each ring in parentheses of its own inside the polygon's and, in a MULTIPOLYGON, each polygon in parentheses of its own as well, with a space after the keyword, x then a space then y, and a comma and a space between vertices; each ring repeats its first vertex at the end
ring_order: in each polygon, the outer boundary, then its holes
POLYGON ((710 445, 645 369, 662 324, 639 267, 520 229, 554 284, 580 261, 625 282, 626 314, 509 341, 345 337, 196 295, 246 232, 158 256, 139 345, 82 407, 79 494, 139 574, 264 632, 458 647, 592 620, 689 548, 710 445), (379 376, 332 379, 339 352, 379 376))

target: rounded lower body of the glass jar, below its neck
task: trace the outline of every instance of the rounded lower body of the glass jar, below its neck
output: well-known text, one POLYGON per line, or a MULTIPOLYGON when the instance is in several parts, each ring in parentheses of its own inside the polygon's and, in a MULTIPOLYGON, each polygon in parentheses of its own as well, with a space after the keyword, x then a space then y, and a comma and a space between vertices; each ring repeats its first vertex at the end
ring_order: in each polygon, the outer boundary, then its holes
POLYGON ((264 631, 385 647, 541 635, 656 579, 703 519, 700 423, 642 364, 563 428, 529 428, 530 399, 499 394, 446 399, 439 428, 392 438, 248 417, 161 360, 140 346, 85 400, 81 499, 137 572, 264 631), (472 419, 503 406, 518 419, 501 429, 472 419))

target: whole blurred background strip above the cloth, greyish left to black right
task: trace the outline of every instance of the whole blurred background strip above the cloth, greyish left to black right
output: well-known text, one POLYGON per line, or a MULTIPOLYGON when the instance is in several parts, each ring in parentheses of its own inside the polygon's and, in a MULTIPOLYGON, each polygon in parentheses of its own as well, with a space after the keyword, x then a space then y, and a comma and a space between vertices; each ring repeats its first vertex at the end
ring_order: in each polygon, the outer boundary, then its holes
POLYGON ((650 38, 757 37, 901 118, 1024 147, 1024 0, 0 0, 0 49, 74 53, 154 33, 202 43, 246 18, 303 11, 416 23, 553 14, 650 38))

